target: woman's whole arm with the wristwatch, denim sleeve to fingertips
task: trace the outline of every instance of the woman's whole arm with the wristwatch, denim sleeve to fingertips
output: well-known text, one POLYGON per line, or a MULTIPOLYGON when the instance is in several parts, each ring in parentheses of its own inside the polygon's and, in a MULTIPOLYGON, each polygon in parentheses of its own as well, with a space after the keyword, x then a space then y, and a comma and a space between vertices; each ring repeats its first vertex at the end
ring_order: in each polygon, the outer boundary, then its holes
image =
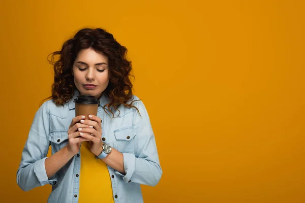
MULTIPOLYGON (((155 136, 142 101, 136 101, 135 106, 141 114, 133 109, 133 128, 136 133, 135 150, 139 155, 121 153, 112 148, 112 151, 102 161, 114 168, 119 175, 124 176, 123 180, 126 182, 131 180, 135 183, 155 186, 162 176, 155 136)), ((84 120, 83 123, 93 127, 81 129, 82 132, 86 132, 81 137, 93 142, 90 150, 98 156, 102 152, 103 145, 101 119, 94 115, 90 116, 91 120, 84 120), (89 133, 93 133, 95 136, 90 136, 89 133)))

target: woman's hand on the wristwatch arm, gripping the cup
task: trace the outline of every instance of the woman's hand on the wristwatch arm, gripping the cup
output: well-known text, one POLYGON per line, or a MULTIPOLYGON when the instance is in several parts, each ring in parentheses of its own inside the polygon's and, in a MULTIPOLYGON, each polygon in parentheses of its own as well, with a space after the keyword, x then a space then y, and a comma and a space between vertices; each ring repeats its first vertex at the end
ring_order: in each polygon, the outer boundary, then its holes
POLYGON ((89 115, 89 119, 80 120, 80 122, 88 128, 78 128, 78 131, 82 132, 80 136, 84 139, 90 140, 90 151, 95 155, 100 155, 103 151, 102 142, 102 126, 101 119, 95 115, 89 115))

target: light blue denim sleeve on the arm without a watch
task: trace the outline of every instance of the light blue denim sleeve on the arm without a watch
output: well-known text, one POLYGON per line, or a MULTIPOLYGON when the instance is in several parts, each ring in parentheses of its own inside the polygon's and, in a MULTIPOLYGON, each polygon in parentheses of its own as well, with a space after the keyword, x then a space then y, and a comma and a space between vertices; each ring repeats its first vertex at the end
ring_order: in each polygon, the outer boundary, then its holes
POLYGON ((17 184, 24 191, 56 183, 55 177, 49 179, 45 170, 45 159, 49 150, 48 136, 49 115, 46 102, 35 114, 17 171, 17 184))

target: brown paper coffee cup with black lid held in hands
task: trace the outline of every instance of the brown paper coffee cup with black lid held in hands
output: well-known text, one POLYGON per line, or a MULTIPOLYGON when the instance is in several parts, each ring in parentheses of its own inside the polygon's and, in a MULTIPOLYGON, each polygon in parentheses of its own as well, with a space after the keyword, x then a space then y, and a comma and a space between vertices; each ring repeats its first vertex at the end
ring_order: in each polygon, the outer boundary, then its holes
POLYGON ((100 101, 94 97, 89 95, 79 95, 75 102, 75 116, 83 115, 85 119, 88 119, 88 115, 98 114, 98 107, 100 105, 100 101))

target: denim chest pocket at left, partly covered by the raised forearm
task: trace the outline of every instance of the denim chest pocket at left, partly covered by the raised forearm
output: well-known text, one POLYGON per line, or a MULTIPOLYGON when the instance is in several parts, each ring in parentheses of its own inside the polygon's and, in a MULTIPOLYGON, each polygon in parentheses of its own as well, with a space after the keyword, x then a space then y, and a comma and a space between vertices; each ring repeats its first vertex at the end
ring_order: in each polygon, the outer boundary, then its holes
POLYGON ((54 154, 68 144, 68 132, 51 132, 49 141, 52 147, 52 154, 54 154))

